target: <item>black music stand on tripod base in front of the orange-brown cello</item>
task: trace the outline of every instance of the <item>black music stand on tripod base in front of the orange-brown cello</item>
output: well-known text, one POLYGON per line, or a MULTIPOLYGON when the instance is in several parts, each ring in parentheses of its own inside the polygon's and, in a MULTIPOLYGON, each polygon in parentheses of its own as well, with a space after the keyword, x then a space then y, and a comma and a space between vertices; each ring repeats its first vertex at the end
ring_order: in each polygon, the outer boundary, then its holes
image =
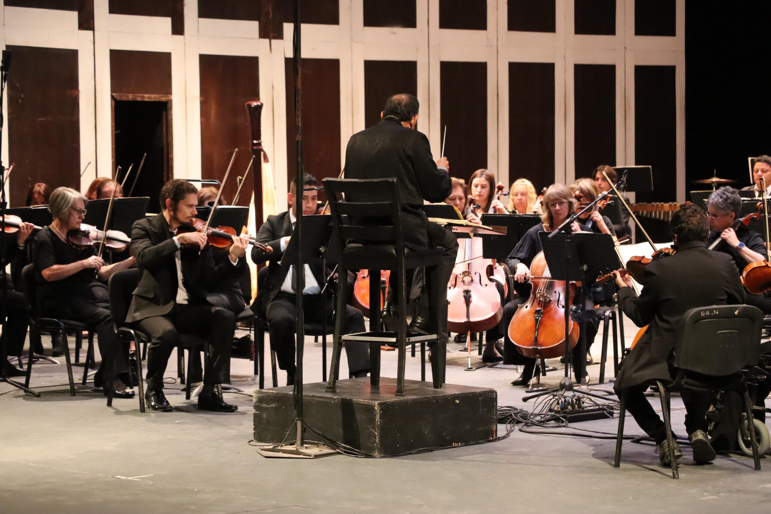
MULTIPOLYGON (((578 305, 585 303, 585 289, 593 284, 596 278, 601 274, 608 273, 609 270, 618 270, 621 267, 621 261, 614 250, 613 238, 606 233, 547 233, 541 232, 541 246, 544 250, 544 257, 549 267, 549 272, 554 280, 558 281, 576 281, 581 279, 583 287, 579 296, 578 305)), ((524 396, 522 401, 528 401, 531 398, 537 398, 560 391, 562 394, 573 392, 573 381, 570 375, 571 362, 570 341, 568 334, 568 311, 565 309, 565 339, 564 339, 564 359, 565 376, 560 381, 557 388, 540 391, 534 395, 524 396)), ((582 321, 581 323, 585 323, 582 321)), ((586 331, 581 328, 581 355, 586 351, 586 331)), ((585 365, 584 365, 585 366, 585 365)), ((583 385, 584 379, 581 378, 583 385)), ((579 391, 582 395, 593 396, 609 400, 603 395, 595 395, 590 391, 579 391)), ((606 391, 607 392, 607 391, 606 391)))

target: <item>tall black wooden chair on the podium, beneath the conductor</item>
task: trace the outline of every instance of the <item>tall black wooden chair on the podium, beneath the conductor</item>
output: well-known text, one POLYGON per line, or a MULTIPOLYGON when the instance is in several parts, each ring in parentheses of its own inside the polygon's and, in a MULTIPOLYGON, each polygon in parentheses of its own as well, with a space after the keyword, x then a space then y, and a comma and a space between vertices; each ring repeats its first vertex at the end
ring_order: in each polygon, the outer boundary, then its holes
MULTIPOLYGON (((337 317, 327 391, 335 391, 342 344, 370 345, 370 383, 372 388, 379 387, 380 346, 389 342, 396 343, 398 348, 396 396, 405 395, 404 368, 408 344, 438 342, 432 352, 431 371, 434 388, 441 388, 444 383, 446 340, 439 340, 437 334, 423 335, 408 331, 406 272, 416 267, 436 266, 442 258, 444 248, 415 251, 404 246, 399 190, 395 179, 325 179, 323 183, 332 213, 332 223, 337 229, 342 249, 338 260, 338 274, 344 277, 347 270, 368 269, 369 304, 377 305, 380 302, 380 270, 391 270, 391 277, 396 277, 394 292, 397 309, 397 330, 394 332, 379 331, 380 311, 377 309, 370 311, 370 331, 361 334, 343 335, 343 317, 337 317), (368 201, 359 200, 362 198, 368 201)), ((338 281, 338 312, 345 311, 343 287, 345 281, 338 281)), ((433 305, 431 309, 432 319, 446 320, 446 304, 433 305)))

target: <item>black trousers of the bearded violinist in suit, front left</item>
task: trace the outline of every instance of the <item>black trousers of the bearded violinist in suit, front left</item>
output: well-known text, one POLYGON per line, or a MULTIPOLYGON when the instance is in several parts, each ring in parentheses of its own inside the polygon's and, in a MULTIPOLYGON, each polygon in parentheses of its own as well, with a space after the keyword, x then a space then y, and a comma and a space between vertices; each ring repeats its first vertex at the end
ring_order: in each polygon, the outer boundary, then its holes
POLYGON ((150 336, 147 350, 147 390, 163 389, 163 373, 177 347, 177 334, 196 334, 208 341, 204 384, 227 384, 231 376, 231 345, 236 317, 222 307, 175 304, 166 316, 146 317, 137 326, 150 336))

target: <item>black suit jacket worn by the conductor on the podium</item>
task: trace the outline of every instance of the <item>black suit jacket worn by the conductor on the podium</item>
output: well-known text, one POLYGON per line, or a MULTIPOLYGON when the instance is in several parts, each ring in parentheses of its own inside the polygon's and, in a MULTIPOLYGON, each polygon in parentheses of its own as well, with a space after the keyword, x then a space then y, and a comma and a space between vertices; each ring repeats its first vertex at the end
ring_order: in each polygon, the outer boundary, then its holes
POLYGON ((443 239, 444 229, 429 223, 423 213, 423 200, 443 202, 453 192, 453 183, 449 173, 436 166, 429 140, 423 133, 392 118, 355 133, 345 150, 345 178, 396 178, 405 246, 426 250, 443 239))

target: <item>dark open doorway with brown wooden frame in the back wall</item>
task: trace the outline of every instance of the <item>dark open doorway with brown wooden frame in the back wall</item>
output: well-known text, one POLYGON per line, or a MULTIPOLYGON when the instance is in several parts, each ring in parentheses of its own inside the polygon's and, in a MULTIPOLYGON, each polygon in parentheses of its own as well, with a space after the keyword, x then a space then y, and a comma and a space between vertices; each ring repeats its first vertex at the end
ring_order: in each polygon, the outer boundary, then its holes
POLYGON ((126 180, 124 196, 150 197, 149 213, 160 212, 160 188, 172 178, 171 97, 162 95, 113 95, 113 173, 120 166, 126 180), (139 176, 136 172, 147 153, 139 176), (136 180, 136 185, 134 185, 136 180))

